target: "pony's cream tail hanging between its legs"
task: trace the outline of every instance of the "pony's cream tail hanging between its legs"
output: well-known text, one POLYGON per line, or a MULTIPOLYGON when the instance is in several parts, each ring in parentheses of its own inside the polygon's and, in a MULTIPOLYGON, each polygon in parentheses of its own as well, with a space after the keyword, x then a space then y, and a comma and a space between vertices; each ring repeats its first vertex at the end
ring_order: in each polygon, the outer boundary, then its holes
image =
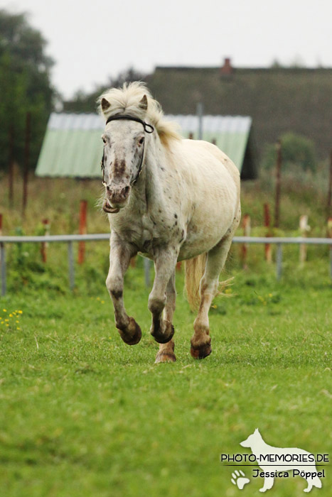
POLYGON ((191 310, 196 310, 200 303, 200 280, 205 271, 206 253, 188 259, 185 263, 185 288, 191 310))

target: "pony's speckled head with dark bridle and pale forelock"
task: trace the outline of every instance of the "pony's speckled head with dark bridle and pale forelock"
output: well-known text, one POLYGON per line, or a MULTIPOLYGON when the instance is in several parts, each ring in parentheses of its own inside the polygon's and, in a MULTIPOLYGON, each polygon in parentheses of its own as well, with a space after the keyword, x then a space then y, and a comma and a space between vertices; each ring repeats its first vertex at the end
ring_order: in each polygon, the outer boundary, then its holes
POLYGON ((132 187, 144 166, 146 141, 154 129, 161 141, 178 136, 173 125, 162 120, 158 102, 152 99, 143 83, 109 89, 98 102, 106 119, 102 134, 103 209, 113 213, 129 202, 132 187))

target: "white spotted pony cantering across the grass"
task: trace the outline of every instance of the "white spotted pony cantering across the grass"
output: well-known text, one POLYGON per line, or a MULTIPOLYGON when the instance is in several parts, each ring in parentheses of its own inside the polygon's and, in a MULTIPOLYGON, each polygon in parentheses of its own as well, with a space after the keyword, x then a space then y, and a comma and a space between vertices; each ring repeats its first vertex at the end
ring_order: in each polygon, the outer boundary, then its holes
POLYGON ((211 353, 208 311, 240 222, 240 175, 230 158, 205 141, 182 139, 141 82, 109 89, 99 99, 105 200, 111 227, 107 288, 122 340, 134 345, 141 328, 124 308, 124 273, 140 252, 155 266, 149 295, 156 362, 175 361, 175 269, 186 261, 186 290, 199 309, 191 355, 211 353), (163 313, 164 312, 164 313, 163 313))

